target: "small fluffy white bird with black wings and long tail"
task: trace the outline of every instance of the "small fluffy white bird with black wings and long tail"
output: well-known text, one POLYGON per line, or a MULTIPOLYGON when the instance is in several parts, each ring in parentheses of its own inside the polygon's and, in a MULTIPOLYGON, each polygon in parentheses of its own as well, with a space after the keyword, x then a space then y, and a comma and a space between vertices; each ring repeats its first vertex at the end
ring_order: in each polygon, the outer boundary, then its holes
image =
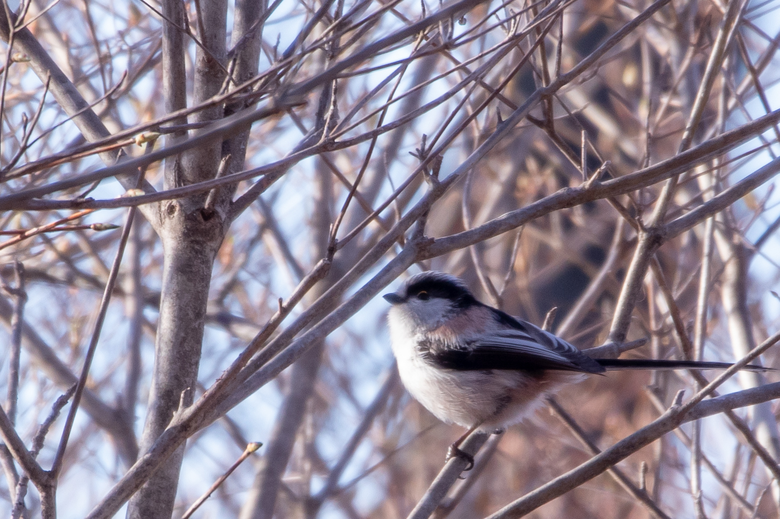
MULTIPOLYGON (((725 362, 590 358, 527 321, 485 305, 458 277, 433 270, 383 296, 392 351, 410 394, 442 422, 493 432, 519 422, 563 384, 608 369, 727 369, 725 362)), ((746 369, 764 370, 748 365, 746 369)))

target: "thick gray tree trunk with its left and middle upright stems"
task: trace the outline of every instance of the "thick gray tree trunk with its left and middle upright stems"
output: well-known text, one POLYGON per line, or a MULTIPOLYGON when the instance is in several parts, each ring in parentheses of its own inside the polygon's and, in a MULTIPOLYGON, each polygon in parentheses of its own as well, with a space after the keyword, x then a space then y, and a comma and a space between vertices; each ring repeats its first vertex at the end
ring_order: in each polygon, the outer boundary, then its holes
MULTIPOLYGON (((225 55, 226 2, 200 2, 204 34, 198 47, 195 70, 195 102, 218 94, 224 74, 219 62, 225 55)), ((186 73, 183 34, 174 23, 183 24, 183 3, 163 2, 163 87, 168 113, 186 108, 186 73)), ((200 111, 197 122, 222 116, 222 107, 200 111)), ((173 134, 166 143, 183 139, 186 132, 173 134)), ((214 178, 220 161, 221 143, 214 141, 189 150, 182 160, 165 161, 167 188, 214 178)), ((222 217, 204 211, 205 193, 162 204, 158 234, 164 249, 160 317, 154 344, 154 370, 141 452, 154 445, 180 408, 193 402, 197 385, 200 347, 203 341, 211 269, 225 235, 222 217)), ((224 214, 224 208, 222 214, 224 214)), ((129 501, 127 517, 168 519, 171 517, 179 483, 184 445, 129 501)))

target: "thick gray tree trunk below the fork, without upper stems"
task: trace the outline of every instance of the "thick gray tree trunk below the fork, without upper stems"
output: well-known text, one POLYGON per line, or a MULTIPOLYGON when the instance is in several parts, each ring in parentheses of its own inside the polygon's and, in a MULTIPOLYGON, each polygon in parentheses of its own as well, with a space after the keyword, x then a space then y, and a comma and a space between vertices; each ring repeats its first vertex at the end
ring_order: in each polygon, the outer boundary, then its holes
MULTIPOLYGON (((211 267, 222 243, 219 218, 204 221, 200 210, 185 214, 171 202, 162 216, 165 249, 160 320, 154 344, 154 372, 149 392, 141 453, 165 430, 179 406, 192 404, 200 363, 211 267)), ((184 447, 165 462, 129 502, 127 517, 169 519, 176 498, 184 447)))

